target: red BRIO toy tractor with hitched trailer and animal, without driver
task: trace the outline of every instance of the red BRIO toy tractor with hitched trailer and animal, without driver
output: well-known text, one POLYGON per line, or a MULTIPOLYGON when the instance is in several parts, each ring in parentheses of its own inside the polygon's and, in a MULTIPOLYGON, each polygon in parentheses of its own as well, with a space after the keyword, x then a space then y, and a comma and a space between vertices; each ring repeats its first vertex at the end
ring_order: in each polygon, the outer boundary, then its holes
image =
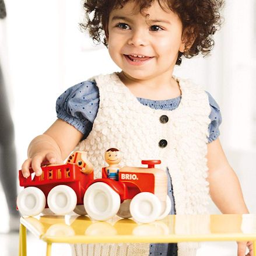
POLYGON ((94 180, 93 166, 85 152, 76 151, 66 164, 42 167, 41 176, 24 178, 20 170, 24 190, 17 197, 17 208, 26 216, 49 208, 55 214, 74 211, 95 220, 116 214, 141 223, 163 219, 171 210, 166 173, 155 169, 160 160, 142 160, 142 164, 148 164, 148 168, 122 167, 118 181, 107 178, 103 167, 102 178, 94 180))

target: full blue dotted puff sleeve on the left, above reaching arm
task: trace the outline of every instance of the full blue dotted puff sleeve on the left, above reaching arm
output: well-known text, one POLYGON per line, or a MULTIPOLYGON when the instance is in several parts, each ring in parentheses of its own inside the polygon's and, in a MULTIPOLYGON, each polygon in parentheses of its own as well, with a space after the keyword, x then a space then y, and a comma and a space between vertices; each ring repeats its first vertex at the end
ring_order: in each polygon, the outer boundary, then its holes
POLYGON ((70 87, 56 101, 57 117, 82 132, 83 139, 92 131, 98 108, 99 92, 94 81, 70 87))

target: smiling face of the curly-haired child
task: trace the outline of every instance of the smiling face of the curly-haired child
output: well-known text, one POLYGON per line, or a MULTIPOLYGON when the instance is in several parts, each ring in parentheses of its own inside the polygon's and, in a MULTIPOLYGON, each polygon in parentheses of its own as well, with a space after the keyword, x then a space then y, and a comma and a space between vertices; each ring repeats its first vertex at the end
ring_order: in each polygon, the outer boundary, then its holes
POLYGON ((181 20, 170 9, 165 12, 157 1, 145 9, 149 14, 147 18, 140 12, 132 13, 135 5, 136 1, 129 1, 124 8, 110 12, 107 42, 111 58, 122 71, 135 79, 150 79, 163 73, 171 75, 178 51, 184 51, 181 20), (167 23, 151 20, 166 20, 167 23), (131 62, 125 56, 130 54, 151 58, 131 62))

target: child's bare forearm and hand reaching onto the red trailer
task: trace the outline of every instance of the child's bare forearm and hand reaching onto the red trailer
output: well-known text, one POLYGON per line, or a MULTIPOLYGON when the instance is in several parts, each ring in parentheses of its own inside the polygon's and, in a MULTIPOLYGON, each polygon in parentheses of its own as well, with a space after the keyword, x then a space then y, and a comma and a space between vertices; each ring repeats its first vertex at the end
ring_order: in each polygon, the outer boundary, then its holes
POLYGON ((22 164, 24 177, 29 177, 31 166, 37 176, 41 175, 41 164, 62 164, 63 160, 78 145, 82 132, 61 119, 51 125, 43 135, 34 138, 27 150, 28 159, 22 164))

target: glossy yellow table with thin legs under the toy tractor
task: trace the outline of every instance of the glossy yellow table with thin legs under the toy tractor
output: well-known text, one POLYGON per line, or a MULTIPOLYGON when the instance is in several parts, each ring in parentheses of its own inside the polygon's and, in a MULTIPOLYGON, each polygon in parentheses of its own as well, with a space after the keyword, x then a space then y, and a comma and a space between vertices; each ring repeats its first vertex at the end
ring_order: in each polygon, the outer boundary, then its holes
POLYGON ((256 215, 169 215, 149 224, 131 219, 93 222, 86 216, 20 218, 19 256, 26 256, 26 229, 47 243, 177 243, 183 241, 254 241, 256 215))

